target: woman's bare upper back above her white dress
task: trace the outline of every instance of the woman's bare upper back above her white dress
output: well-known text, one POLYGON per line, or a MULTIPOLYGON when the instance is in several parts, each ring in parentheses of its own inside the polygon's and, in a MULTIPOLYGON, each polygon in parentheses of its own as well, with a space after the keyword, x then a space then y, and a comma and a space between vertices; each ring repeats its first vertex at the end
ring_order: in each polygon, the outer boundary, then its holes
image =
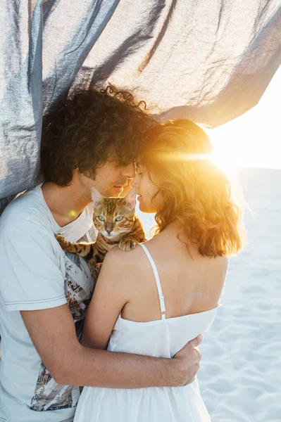
MULTIPOLYGON (((178 225, 171 224, 146 242, 155 262, 166 303, 166 318, 196 314, 218 305, 227 272, 227 257, 202 257, 196 245, 187 248, 177 238, 178 225)), ((137 247, 125 257, 132 284, 123 319, 154 321, 161 319, 154 271, 144 251, 137 247)))

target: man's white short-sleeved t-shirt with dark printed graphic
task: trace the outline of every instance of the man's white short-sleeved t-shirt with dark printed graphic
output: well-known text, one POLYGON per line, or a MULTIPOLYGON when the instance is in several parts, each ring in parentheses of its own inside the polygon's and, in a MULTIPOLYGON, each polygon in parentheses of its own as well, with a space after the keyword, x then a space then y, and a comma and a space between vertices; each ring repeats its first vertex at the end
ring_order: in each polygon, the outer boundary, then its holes
POLYGON ((54 381, 20 311, 68 303, 80 338, 94 282, 85 260, 65 254, 54 234, 93 241, 92 214, 89 205, 61 228, 40 184, 13 200, 0 218, 0 421, 73 421, 82 388, 54 381))

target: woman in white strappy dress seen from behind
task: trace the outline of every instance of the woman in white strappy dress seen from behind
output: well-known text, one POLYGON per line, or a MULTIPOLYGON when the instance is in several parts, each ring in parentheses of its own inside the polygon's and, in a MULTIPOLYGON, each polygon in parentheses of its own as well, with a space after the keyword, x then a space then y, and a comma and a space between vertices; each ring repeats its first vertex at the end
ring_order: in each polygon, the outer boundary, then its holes
MULTIPOLYGON (((85 321, 85 345, 170 358, 211 326, 228 257, 241 248, 241 237, 239 207, 210 153, 208 136, 189 120, 149 129, 132 186, 140 210, 156 212, 155 235, 130 252, 108 252, 85 321)), ((210 417, 195 378, 175 388, 87 387, 75 416, 82 421, 210 417)))

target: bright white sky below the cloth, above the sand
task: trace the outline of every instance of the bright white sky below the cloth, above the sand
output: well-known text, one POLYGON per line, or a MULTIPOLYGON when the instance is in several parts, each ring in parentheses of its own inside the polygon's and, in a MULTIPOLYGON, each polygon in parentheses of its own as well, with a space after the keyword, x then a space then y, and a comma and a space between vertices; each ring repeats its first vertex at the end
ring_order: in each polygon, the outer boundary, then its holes
POLYGON ((233 167, 281 169, 281 66, 258 105, 237 119, 208 130, 214 159, 233 167))

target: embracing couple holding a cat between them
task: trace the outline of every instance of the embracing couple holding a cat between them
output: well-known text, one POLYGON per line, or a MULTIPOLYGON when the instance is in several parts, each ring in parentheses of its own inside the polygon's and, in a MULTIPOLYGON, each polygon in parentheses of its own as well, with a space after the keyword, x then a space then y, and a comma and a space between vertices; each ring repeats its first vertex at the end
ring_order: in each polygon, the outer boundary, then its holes
POLYGON ((210 421, 197 346, 242 243, 210 154, 203 129, 122 91, 45 117, 44 182, 0 219, 0 421, 210 421))

